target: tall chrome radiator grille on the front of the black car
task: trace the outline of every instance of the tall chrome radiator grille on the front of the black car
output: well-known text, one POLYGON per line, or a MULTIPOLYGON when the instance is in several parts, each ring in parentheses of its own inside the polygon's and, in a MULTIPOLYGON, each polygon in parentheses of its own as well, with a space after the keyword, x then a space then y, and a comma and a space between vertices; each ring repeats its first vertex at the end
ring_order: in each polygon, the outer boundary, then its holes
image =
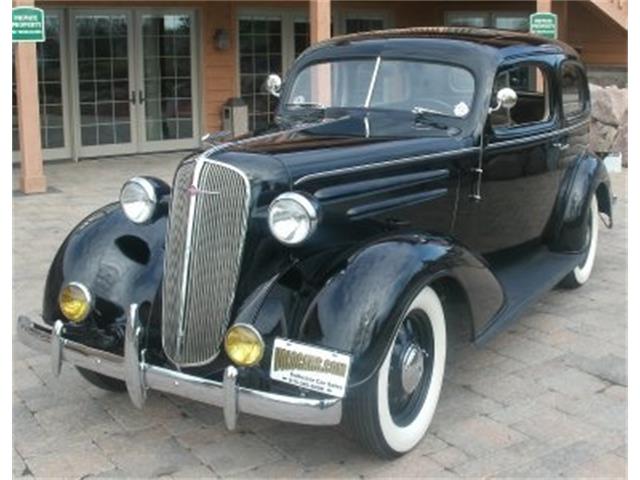
POLYGON ((247 230, 250 187, 235 168, 207 159, 174 179, 162 290, 162 342, 177 365, 219 353, 230 320, 247 230))

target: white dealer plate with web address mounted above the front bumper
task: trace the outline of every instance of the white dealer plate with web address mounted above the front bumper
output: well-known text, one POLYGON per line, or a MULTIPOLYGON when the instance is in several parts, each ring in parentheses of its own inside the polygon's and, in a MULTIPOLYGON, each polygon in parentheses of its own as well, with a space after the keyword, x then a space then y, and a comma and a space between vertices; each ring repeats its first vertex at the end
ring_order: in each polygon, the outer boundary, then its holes
POLYGON ((351 356, 276 338, 271 378, 334 397, 344 397, 351 356))

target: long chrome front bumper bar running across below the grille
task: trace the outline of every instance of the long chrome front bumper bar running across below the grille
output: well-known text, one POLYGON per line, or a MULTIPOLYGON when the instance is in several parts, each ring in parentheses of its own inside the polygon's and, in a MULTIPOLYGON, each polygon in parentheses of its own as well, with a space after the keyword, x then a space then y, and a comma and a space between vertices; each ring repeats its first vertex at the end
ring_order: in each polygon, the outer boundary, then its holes
MULTIPOLYGON (((134 312, 135 317, 137 317, 137 310, 130 310, 130 313, 134 312)), ((44 323, 41 317, 35 318, 37 321, 23 315, 18 317, 16 335, 22 343, 34 350, 49 353, 51 351, 52 329, 44 323)), ((133 323, 139 325, 138 320, 133 323)), ((142 332, 138 329, 136 330, 140 336, 142 332)), ((135 352, 134 358, 139 355, 133 348, 133 343, 130 343, 133 338, 128 337, 127 339, 126 335, 126 357, 114 355, 64 338, 62 340, 61 358, 64 361, 120 380, 126 379, 125 370, 128 368, 127 364, 129 362, 130 365, 134 364, 133 361, 129 360, 130 352, 135 352), (126 343, 129 343, 128 348, 126 343)), ((225 409, 232 408, 225 405, 225 398, 233 395, 225 393, 224 382, 216 382, 168 368, 150 365, 145 363, 144 359, 138 362, 137 368, 141 374, 142 384, 146 385, 148 389, 189 398, 225 409)), ((231 373, 230 371, 227 375, 231 373)), ((342 400, 339 398, 310 399, 292 397, 252 390, 227 381, 227 389, 229 385, 235 386, 236 412, 238 413, 245 412, 274 420, 305 425, 338 425, 342 419, 342 400)), ((232 413, 225 413, 225 418, 227 415, 231 416, 232 413)))

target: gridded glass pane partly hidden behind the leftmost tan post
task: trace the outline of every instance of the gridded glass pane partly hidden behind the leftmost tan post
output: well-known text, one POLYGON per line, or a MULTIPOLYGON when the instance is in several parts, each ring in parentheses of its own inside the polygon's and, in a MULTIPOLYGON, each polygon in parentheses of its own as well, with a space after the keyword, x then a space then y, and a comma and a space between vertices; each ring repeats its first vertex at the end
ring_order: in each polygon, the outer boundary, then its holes
MULTIPOLYGON (((42 148, 64 147, 62 121, 62 76, 60 63, 60 17, 45 15, 46 41, 36 45, 38 61, 38 92, 40 102, 40 134, 42 148)), ((18 108, 15 72, 12 72, 13 150, 19 150, 18 108)))

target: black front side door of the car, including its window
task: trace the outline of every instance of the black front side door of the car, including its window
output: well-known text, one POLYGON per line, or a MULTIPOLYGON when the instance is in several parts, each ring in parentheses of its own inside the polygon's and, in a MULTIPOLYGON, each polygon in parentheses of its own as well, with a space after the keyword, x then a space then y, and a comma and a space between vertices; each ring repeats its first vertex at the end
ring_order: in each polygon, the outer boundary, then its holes
POLYGON ((482 172, 472 182, 479 197, 461 196, 466 206, 456 219, 456 236, 479 253, 534 243, 543 235, 560 184, 556 85, 546 62, 513 63, 496 75, 493 98, 509 87, 518 100, 512 109, 488 115, 482 172))

